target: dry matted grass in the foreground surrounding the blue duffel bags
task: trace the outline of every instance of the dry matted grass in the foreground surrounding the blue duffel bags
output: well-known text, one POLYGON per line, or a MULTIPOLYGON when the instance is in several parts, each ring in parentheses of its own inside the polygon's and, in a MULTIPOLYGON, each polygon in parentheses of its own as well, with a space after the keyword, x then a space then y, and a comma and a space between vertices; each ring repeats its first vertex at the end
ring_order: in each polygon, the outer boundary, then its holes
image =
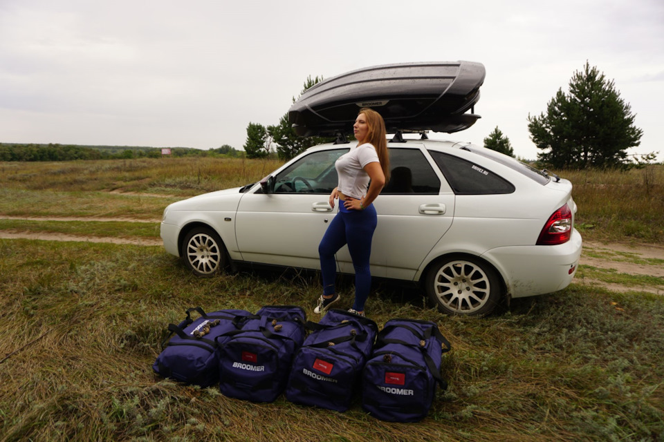
MULTIPOLYGON (((367 307, 379 325, 395 316, 434 320, 453 346, 443 361, 450 388, 423 422, 398 424, 367 416, 359 402, 343 414, 283 396, 247 403, 151 371, 165 326, 185 308, 313 306, 320 283, 307 273, 201 279, 160 247, 12 240, 0 241, 0 291, 1 441, 636 441, 664 434, 664 305, 646 294, 573 285, 515 300, 488 318, 457 318, 424 307, 412 287, 376 284, 367 307)), ((340 291, 352 298, 348 281, 340 291)))

